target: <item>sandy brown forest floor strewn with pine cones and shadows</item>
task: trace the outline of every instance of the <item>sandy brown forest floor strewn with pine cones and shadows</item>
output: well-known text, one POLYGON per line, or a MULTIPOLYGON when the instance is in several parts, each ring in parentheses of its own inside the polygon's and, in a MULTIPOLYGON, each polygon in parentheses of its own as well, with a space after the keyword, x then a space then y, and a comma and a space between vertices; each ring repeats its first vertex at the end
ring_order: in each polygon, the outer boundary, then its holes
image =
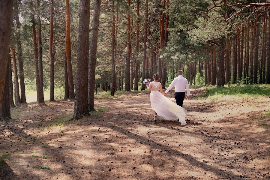
POLYGON ((0 125, 0 179, 269 179, 269 97, 196 100, 202 93, 184 101, 185 126, 153 123, 145 91, 101 97, 79 120, 73 101, 13 108, 0 125))

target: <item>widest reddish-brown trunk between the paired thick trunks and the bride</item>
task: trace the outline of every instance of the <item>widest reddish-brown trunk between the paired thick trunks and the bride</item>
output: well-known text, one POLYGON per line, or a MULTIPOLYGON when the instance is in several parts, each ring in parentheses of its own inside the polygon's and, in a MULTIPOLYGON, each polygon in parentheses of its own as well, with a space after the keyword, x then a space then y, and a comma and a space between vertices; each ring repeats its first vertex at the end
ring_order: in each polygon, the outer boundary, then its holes
MULTIPOLYGON (((128 1, 127 11, 127 58, 126 58, 126 69, 125 69, 125 91, 130 91, 130 0, 128 1)), ((148 2, 148 0, 146 0, 148 2)), ((147 4, 148 8, 148 4, 147 4)))

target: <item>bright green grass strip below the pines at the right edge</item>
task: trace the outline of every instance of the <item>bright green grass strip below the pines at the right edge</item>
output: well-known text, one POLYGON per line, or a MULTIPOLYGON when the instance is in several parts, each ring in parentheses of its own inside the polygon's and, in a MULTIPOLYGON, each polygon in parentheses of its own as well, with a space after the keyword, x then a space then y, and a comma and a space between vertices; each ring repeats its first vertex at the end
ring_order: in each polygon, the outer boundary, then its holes
MULTIPOLYGON (((247 97, 258 98, 259 96, 270 96, 270 85, 232 84, 232 85, 225 85, 221 88, 207 86, 205 88, 205 95, 208 97, 216 96, 215 98, 222 98, 225 95, 237 96, 242 98, 247 97)), ((205 97, 205 95, 201 95, 199 98, 205 97)))

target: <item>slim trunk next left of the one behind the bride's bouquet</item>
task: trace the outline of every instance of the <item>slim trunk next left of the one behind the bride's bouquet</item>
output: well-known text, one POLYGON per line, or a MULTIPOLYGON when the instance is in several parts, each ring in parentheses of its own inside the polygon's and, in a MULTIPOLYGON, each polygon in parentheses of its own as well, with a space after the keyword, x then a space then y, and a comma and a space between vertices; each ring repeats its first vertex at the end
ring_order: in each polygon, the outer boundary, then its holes
POLYGON ((134 79, 134 90, 138 91, 138 72, 139 72, 139 34, 140 34, 140 1, 137 0, 137 32, 136 32, 136 64, 135 64, 135 79, 134 79))

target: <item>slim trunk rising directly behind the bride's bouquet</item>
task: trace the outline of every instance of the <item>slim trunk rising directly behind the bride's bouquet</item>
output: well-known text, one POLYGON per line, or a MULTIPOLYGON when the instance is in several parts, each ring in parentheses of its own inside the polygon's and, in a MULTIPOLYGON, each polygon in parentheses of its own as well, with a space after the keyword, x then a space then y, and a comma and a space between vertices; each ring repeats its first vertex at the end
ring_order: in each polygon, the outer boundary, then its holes
MULTIPOLYGON (((143 80, 146 78, 145 77, 145 64, 146 64, 146 42, 147 42, 147 25, 148 25, 148 0, 146 0, 146 4, 145 4, 145 21, 144 21, 144 41, 143 41, 143 80)), ((145 89, 145 85, 143 84, 143 80, 142 80, 142 89, 145 89)))

